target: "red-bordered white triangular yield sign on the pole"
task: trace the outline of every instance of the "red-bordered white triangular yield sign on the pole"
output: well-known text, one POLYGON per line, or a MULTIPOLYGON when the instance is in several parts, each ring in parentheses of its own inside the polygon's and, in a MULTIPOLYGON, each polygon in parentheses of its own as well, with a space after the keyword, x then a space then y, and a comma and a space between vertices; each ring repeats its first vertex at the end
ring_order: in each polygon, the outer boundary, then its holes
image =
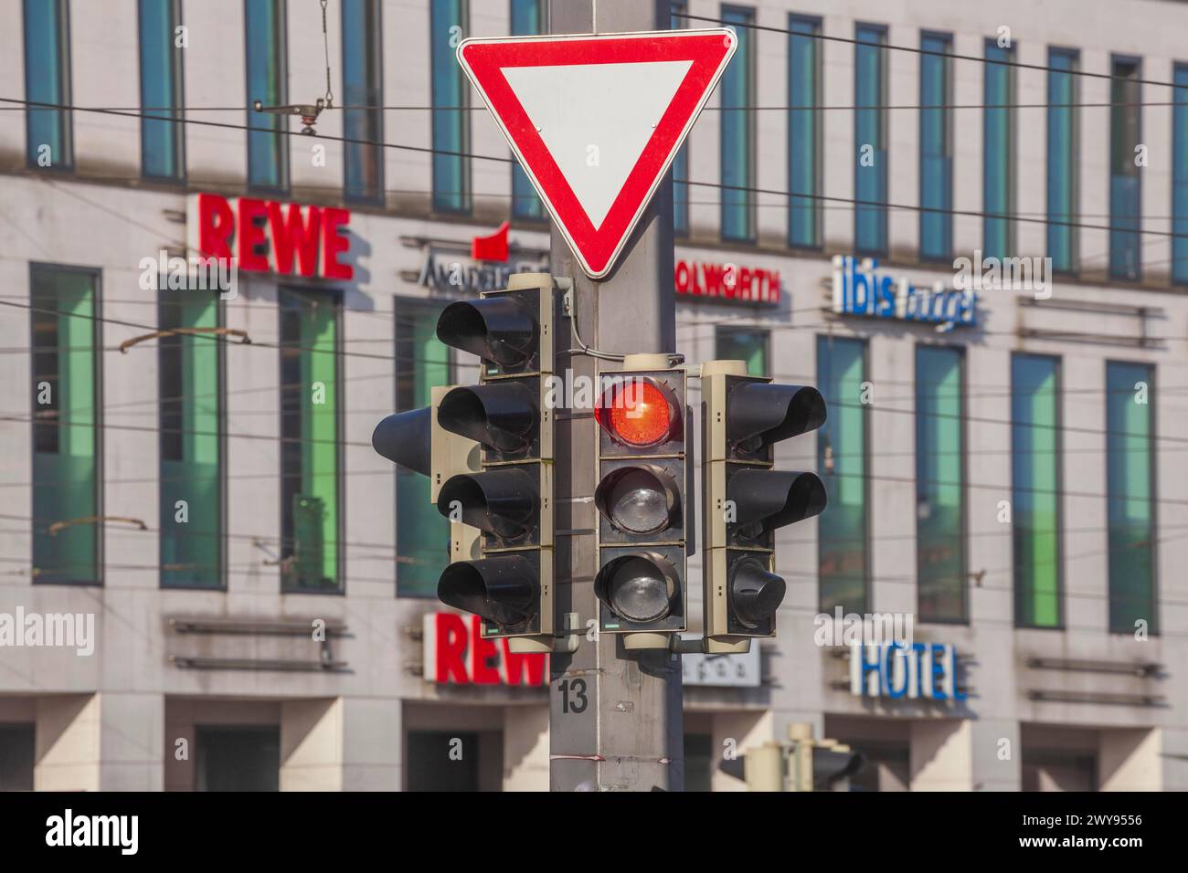
POLYGON ((733 31, 466 39, 457 59, 600 279, 738 48, 733 31))

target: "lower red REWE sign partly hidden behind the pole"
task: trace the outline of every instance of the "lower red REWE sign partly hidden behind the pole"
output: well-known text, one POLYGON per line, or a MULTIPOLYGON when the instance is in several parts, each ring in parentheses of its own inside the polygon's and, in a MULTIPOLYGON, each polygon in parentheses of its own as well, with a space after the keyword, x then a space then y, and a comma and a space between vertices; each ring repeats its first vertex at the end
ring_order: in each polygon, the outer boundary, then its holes
POLYGON ((428 613, 424 677, 450 685, 548 685, 548 654, 517 654, 506 639, 484 639, 478 615, 428 613))

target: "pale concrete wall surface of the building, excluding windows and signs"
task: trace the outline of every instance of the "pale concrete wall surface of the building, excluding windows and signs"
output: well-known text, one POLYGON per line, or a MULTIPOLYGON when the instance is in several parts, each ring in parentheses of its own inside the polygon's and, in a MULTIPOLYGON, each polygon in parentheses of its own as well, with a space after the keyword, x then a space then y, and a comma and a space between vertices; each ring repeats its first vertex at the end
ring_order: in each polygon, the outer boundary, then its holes
MULTIPOLYGON (((555 0, 556 1, 556 0, 555 0)), ((429 0, 384 0, 384 103, 424 107, 431 102, 429 0)), ((330 64, 340 82, 341 42, 336 4, 330 15, 330 64)), ((823 33, 852 38, 855 21, 887 25, 892 45, 918 46, 922 30, 952 33, 954 51, 980 57, 982 40, 1010 26, 1018 61, 1047 63, 1047 46, 1079 49, 1081 69, 1107 72, 1111 53, 1143 58, 1143 76, 1167 82, 1175 62, 1188 62, 1180 34, 1188 32, 1188 6, 1167 0, 1026 0, 975 2, 895 2, 880 0, 783 0, 739 4, 754 8, 756 21, 788 26, 791 13, 819 15, 823 33)), ((467 36, 510 31, 506 0, 470 0, 467 36)), ((131 0, 70 2, 71 102, 89 107, 139 105, 137 13, 131 0)), ((690 0, 695 15, 718 18, 720 5, 690 0)), ((0 96, 24 96, 21 2, 0 0, 0 96)), ((183 0, 190 48, 184 52, 188 107, 240 106, 245 93, 242 0, 183 0)), ((697 26, 699 23, 690 23, 697 26)), ((712 26, 712 25, 704 25, 712 26)), ((788 38, 758 32, 757 106, 788 102, 788 38)), ((289 4, 289 81, 291 101, 314 100, 324 90, 321 15, 316 5, 289 4)), ((853 45, 822 43, 824 106, 854 100, 853 45)), ((889 51, 889 103, 918 103, 918 56, 889 51)), ((1044 74, 1018 70, 1016 99, 1045 100, 1044 74)), ((953 100, 982 101, 982 64, 954 61, 953 100)), ((1108 82, 1080 77, 1080 100, 1108 101, 1108 82)), ((1170 100, 1170 89, 1144 86, 1146 101, 1170 100)), ((689 145, 689 176, 716 182, 719 113, 716 97, 695 128, 689 145)), ((1107 109, 1080 110, 1080 211, 1089 224, 1108 222, 1107 109)), ((162 589, 156 567, 158 542, 152 532, 108 524, 103 531, 107 567, 102 587, 38 584, 31 576, 32 506, 30 264, 88 267, 100 272, 102 322, 103 502, 107 515, 157 518, 158 373, 153 343, 128 354, 116 347, 146 333, 156 318, 153 292, 138 286, 138 264, 187 240, 188 196, 215 191, 246 194, 246 139, 242 131, 188 126, 187 183, 166 185, 140 178, 137 119, 74 113, 75 166, 48 173, 26 162, 25 114, 4 112, 0 126, 0 299, 18 304, 0 311, 0 407, 4 463, 0 488, 6 498, 0 523, 0 613, 94 613, 96 649, 77 657, 69 649, 0 649, 0 723, 36 725, 34 785, 38 790, 189 790, 192 765, 177 754, 178 741, 192 744, 196 726, 267 725, 279 729, 283 790, 399 790, 405 785, 406 745, 416 730, 466 730, 482 742, 501 744, 485 758, 482 785, 506 790, 548 786, 548 716, 539 689, 443 688, 410 670, 421 662, 416 633, 421 616, 436 601, 396 596, 399 564, 396 542, 396 480, 392 467, 372 450, 374 424, 394 397, 394 312, 409 301, 444 301, 407 278, 422 267, 424 251, 402 238, 430 238, 468 245, 508 215, 511 173, 507 164, 470 162, 473 210, 469 216, 435 215, 430 205, 429 154, 386 148, 384 208, 352 207, 349 232, 355 279, 327 283, 343 292, 341 359, 345 386, 342 473, 345 487, 345 593, 283 594, 279 571, 254 543, 280 537, 279 356, 276 276, 253 274, 240 297, 225 306, 226 324, 247 331, 252 346, 226 348, 226 531, 227 587, 222 592, 162 589), (121 323, 122 322, 122 323, 121 323), (364 354, 352 355, 352 352, 364 354), (375 355, 374 358, 367 355, 375 355), (147 424, 148 429, 140 429, 147 424), (235 436, 241 435, 241 436, 235 436), (381 544, 374 549, 356 544, 381 544), (345 672, 274 672, 187 670, 170 660, 189 652, 168 622, 175 615, 266 620, 340 621, 348 635, 333 641, 345 672), (498 735, 498 738, 497 738, 498 735), (501 738, 501 739, 500 739, 501 738), (501 764, 495 767, 491 761, 501 764)), ((788 184, 784 112, 757 113, 756 185, 771 191, 788 184)), ((853 114, 823 114, 822 194, 853 197, 853 114)), ((189 118, 244 125, 236 112, 191 112, 189 118)), ((430 113, 385 113, 387 143, 429 147, 430 113)), ((506 145, 485 113, 473 113, 469 151, 504 156, 506 145)), ((1043 215, 1045 209, 1045 138, 1042 109, 1017 110, 1016 211, 1043 215)), ((918 202, 918 114, 889 112, 890 194, 892 203, 918 202)), ((296 128, 295 128, 296 129, 296 128)), ((323 134, 341 134, 341 114, 317 122, 323 134)), ((956 210, 981 209, 981 113, 954 110, 954 191, 956 210)), ((1140 178, 1143 227, 1170 230, 1171 126, 1168 107, 1145 107, 1143 135, 1150 163, 1140 178)), ((291 189, 299 203, 341 205, 342 151, 333 141, 289 139, 291 189), (324 166, 311 160, 312 145, 326 146, 324 166)), ((1188 160, 1181 156, 1180 160, 1188 160)), ((1148 320, 1144 348, 1068 342, 1022 336, 1019 328, 1093 333, 1133 333, 1121 316, 1069 315, 1026 306, 1025 292, 987 292, 981 327, 937 336, 930 328, 861 318, 834 318, 821 311, 834 254, 853 253, 853 213, 827 202, 822 210, 823 247, 794 252, 785 245, 786 209, 781 196, 757 195, 757 242, 719 241, 719 192, 690 189, 691 233, 678 257, 737 262, 778 271, 782 302, 775 310, 721 303, 682 303, 677 314, 680 350, 689 361, 714 358, 719 323, 766 327, 770 368, 777 381, 813 384, 816 337, 860 336, 868 341, 867 366, 874 386, 870 412, 870 482, 872 608, 916 609, 914 349, 943 341, 966 352, 968 568, 985 570, 971 582, 969 622, 917 625, 917 639, 948 643, 967 657, 973 696, 960 711, 910 702, 871 702, 833 687, 846 673, 835 652, 814 641, 819 609, 816 523, 783 529, 779 570, 788 595, 779 615, 779 635, 765 641, 766 682, 754 690, 687 689, 690 725, 713 736, 720 749, 728 739, 745 751, 747 742, 784 738, 788 725, 811 722, 819 736, 846 723, 871 736, 886 728, 910 749, 908 785, 914 790, 1018 790, 1024 784, 1022 754, 1029 736, 1043 747, 1061 742, 1061 730, 1078 736, 1078 748, 1097 760, 1099 787, 1106 790, 1188 789, 1188 298, 1168 280, 1171 243, 1146 235, 1143 260, 1152 266, 1142 284, 1119 286, 1107 277, 1108 236, 1082 229, 1079 278, 1059 278, 1053 297, 1093 304, 1123 304, 1162 310, 1148 320), (1062 496, 1063 630, 1013 626, 1012 546, 998 521, 999 501, 1011 495, 1010 360, 1013 352, 1059 355, 1066 493, 1062 496), (1108 632, 1105 467, 1105 362, 1149 362, 1156 368, 1156 445, 1158 470, 1157 583, 1161 634, 1139 641, 1108 632), (975 386, 975 390, 974 390, 975 386), (1037 670, 1032 658, 1111 663, 1156 663, 1162 678, 1136 678, 1078 671, 1037 670), (1031 700, 1029 690, 1151 694, 1163 706, 1053 702, 1031 700), (700 721, 697 721, 700 720, 700 721), (838 721, 841 720, 841 721, 838 721), (846 721, 848 720, 848 721, 846 721), (860 725, 859 725, 860 723, 860 725), (859 725, 859 727, 854 727, 859 725), (889 727, 887 727, 889 726, 889 727), (898 733, 897 733, 898 732, 898 733), (1055 739, 1053 739, 1055 738, 1055 739), (1004 741, 1007 749, 1003 753, 1004 741)), ((972 255, 981 243, 981 219, 954 217, 954 254, 972 255)), ((897 276, 921 284, 952 281, 952 271, 923 265, 916 252, 916 213, 892 211, 889 265, 897 276)), ((546 248, 543 226, 513 224, 512 240, 546 248)), ((1017 254, 1042 255, 1044 226, 1016 227, 1017 254)), ((473 369, 460 368, 466 381, 473 369)), ((690 382, 690 403, 700 398, 690 382)), ((815 442, 805 436, 781 447, 781 466, 815 463, 815 442)), ((426 511, 430 511, 426 507, 426 511)), ((700 601, 700 556, 690 562, 690 605, 700 601)), ((697 630, 694 620, 691 630, 697 630)), ((241 657, 310 657, 303 641, 248 637, 226 644, 241 657)), ((226 653, 226 652, 221 652, 226 653)), ((1059 780, 1057 780, 1059 782, 1059 780)), ((728 777, 713 777, 715 790, 737 789, 728 777)))

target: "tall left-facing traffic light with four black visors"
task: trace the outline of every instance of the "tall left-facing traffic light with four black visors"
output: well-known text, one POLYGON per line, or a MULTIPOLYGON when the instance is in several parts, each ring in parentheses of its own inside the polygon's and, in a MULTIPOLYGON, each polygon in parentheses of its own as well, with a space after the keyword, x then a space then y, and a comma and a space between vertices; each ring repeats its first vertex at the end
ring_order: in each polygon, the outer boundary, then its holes
MULTIPOLYGON (((478 355, 478 385, 447 391, 436 426, 478 443, 478 463, 454 470, 438 512, 476 530, 476 555, 454 555, 437 583, 448 606, 482 619, 482 635, 518 651, 549 651, 554 616, 552 411, 560 296, 546 273, 519 273, 506 291, 448 305, 437 339, 478 355)), ((463 550, 465 551, 465 550, 463 550)))

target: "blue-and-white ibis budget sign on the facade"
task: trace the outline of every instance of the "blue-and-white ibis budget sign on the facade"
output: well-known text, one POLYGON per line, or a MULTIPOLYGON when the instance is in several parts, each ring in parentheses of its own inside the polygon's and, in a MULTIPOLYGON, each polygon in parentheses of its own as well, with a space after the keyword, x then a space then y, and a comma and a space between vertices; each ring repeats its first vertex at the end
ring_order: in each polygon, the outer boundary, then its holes
POLYGON ((946 329, 978 323, 978 295, 954 291, 943 283, 914 285, 879 268, 877 260, 851 255, 833 259, 833 311, 874 318, 925 322, 946 329))

